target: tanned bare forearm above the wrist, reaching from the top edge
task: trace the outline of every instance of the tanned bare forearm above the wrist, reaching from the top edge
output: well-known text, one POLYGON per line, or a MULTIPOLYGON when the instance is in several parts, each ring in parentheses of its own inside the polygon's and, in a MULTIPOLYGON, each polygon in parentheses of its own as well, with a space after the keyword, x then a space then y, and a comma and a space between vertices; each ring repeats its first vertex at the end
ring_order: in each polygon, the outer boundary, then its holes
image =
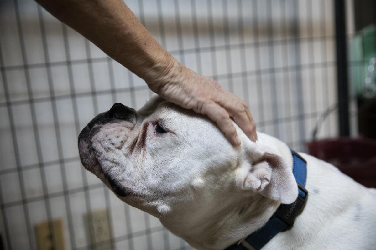
POLYGON ((36 1, 148 84, 178 66, 123 0, 36 1))

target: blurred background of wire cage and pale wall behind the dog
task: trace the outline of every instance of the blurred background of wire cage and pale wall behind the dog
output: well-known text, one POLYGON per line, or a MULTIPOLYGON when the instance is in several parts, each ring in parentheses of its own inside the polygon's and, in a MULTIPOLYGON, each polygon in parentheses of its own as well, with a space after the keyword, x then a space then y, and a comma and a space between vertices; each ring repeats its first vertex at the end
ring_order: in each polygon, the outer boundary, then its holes
MULTIPOLYGON (((376 183, 375 1, 126 3, 258 131, 376 183)), ((80 164, 80 130, 115 102, 140 108, 142 79, 32 0, 0 1, 0 67, 0 249, 191 249, 80 164)))

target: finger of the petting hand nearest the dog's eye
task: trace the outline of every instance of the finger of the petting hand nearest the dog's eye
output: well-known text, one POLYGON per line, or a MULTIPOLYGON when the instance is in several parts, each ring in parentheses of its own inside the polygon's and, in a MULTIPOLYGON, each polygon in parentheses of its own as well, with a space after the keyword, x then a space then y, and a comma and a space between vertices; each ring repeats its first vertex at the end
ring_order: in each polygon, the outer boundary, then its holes
POLYGON ((203 105, 202 114, 207 115, 210 120, 217 123, 218 128, 234 146, 240 145, 235 126, 232 124, 229 113, 215 102, 208 102, 203 105))

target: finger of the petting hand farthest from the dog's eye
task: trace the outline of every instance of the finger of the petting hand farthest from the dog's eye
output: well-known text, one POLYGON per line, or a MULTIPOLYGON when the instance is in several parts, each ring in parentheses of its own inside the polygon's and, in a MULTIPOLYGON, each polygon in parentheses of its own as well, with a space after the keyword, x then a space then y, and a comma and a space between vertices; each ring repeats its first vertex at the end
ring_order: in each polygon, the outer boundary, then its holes
POLYGON ((234 119, 248 138, 252 141, 256 141, 257 135, 255 121, 253 120, 246 103, 229 92, 223 92, 223 94, 217 97, 216 101, 226 109, 230 117, 234 119))

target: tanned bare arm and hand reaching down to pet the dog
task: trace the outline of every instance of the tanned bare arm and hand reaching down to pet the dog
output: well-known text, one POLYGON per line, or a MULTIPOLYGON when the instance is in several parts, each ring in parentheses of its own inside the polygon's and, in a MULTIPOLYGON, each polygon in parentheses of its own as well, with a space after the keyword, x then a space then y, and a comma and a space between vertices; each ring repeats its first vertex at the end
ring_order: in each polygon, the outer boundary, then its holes
POLYGON ((233 145, 231 118, 252 140, 256 125, 246 103, 213 79, 180 64, 146 30, 123 0, 36 0, 111 58, 145 80, 150 90, 186 109, 207 115, 233 145))

